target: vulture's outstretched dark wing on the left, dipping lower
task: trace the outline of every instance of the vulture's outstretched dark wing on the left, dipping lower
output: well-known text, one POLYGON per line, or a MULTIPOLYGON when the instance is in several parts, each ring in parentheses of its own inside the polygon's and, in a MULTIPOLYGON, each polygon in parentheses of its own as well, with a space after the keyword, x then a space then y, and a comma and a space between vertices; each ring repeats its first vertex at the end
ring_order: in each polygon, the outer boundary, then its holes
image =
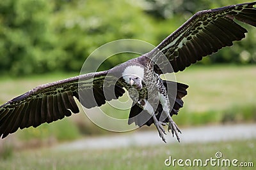
POLYGON ((74 97, 84 107, 92 108, 116 99, 124 92, 116 78, 108 76, 108 71, 40 85, 0 106, 0 138, 19 128, 37 127, 69 117, 71 112, 79 113, 74 97))

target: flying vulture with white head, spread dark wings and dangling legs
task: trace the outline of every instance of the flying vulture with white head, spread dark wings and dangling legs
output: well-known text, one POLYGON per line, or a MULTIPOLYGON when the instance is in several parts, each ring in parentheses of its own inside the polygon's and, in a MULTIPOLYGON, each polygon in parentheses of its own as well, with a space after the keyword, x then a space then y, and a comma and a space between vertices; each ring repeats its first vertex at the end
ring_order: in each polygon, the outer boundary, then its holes
POLYGON ((128 124, 140 127, 154 124, 164 142, 163 126, 168 125, 168 131, 180 141, 180 129, 172 115, 177 115, 182 108, 188 85, 162 80, 160 75, 183 71, 202 57, 243 39, 247 31, 234 20, 256 27, 255 4, 199 11, 140 57, 107 71, 40 85, 15 97, 0 106, 0 138, 19 128, 37 127, 79 113, 74 97, 85 108, 93 108, 118 99, 127 89, 133 101, 128 124))

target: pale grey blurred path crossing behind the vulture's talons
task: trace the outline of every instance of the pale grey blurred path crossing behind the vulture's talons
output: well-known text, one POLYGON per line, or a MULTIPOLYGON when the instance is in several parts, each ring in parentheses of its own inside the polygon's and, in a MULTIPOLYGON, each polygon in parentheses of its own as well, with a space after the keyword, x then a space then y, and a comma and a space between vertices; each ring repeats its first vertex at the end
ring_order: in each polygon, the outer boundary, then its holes
MULTIPOLYGON (((167 143, 177 143, 172 138, 171 133, 167 133, 167 143)), ((238 124, 238 125, 216 125, 206 127, 189 127, 182 129, 180 143, 205 143, 209 141, 227 141, 232 139, 250 139, 256 138, 256 124, 238 124)), ((113 136, 93 137, 79 139, 71 143, 63 143, 54 146, 56 150, 89 150, 102 148, 116 148, 127 146, 148 146, 163 145, 157 131, 132 131, 126 133, 117 133, 113 136)))

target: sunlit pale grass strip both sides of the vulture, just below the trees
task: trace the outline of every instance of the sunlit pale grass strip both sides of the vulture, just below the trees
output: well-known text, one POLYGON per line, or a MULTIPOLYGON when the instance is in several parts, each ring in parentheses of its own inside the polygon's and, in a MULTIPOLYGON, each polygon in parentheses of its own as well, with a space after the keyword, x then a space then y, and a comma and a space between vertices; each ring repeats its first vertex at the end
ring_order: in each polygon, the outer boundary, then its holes
MULTIPOLYGON (((76 73, 42 74, 28 78, 0 77, 0 103, 18 96, 36 85, 76 76, 76 73)), ((184 98, 185 110, 225 110, 234 105, 255 104, 256 66, 191 66, 176 75, 189 85, 184 98)))

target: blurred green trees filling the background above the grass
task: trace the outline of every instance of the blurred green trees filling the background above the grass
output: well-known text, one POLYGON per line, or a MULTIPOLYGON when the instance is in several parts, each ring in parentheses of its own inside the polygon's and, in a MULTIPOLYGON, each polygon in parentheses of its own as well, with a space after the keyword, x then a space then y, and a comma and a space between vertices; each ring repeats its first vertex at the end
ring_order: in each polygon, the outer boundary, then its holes
MULTIPOLYGON (((134 38, 157 45, 196 11, 245 1, 0 1, 0 72, 79 72, 86 57, 109 41, 134 38)), ((204 62, 255 62, 256 31, 246 28, 252 35, 246 41, 204 62)), ((111 57, 100 69, 129 57, 111 57)))

